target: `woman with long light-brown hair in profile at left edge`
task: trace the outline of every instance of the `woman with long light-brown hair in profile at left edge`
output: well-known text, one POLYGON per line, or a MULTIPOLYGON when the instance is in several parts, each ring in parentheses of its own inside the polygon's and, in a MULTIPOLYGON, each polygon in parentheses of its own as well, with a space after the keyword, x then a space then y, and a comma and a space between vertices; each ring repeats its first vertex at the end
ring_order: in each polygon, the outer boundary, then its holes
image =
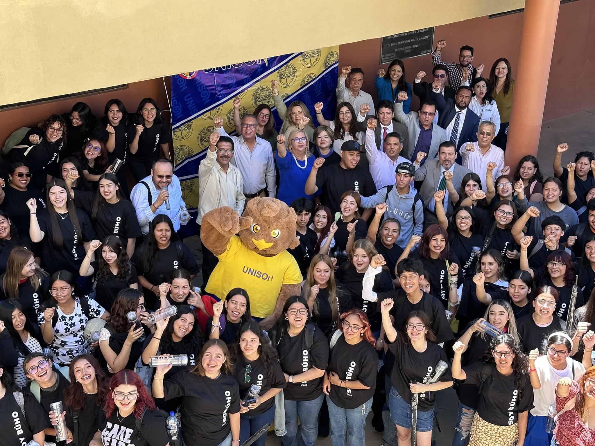
POLYGON ((27 318, 37 321, 43 301, 43 284, 48 274, 37 266, 33 253, 17 246, 10 252, 7 270, 0 277, 0 298, 18 300, 27 318))

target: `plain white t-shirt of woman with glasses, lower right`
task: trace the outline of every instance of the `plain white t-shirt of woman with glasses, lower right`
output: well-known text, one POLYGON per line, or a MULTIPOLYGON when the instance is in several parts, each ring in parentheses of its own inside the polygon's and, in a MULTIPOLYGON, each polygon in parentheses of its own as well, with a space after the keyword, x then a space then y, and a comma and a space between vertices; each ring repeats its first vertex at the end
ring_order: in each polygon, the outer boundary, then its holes
POLYGON ((571 357, 566 358, 566 368, 564 370, 553 368, 547 360, 547 356, 538 357, 535 360, 535 368, 537 369, 537 375, 539 375, 541 387, 533 389, 533 404, 535 406, 531 409, 531 415, 533 416, 547 416, 547 409, 552 404, 556 404, 556 385, 558 385, 560 378, 568 376, 568 378, 577 381, 585 373, 583 364, 571 357), (572 364, 574 364, 574 376, 572 375, 572 364))

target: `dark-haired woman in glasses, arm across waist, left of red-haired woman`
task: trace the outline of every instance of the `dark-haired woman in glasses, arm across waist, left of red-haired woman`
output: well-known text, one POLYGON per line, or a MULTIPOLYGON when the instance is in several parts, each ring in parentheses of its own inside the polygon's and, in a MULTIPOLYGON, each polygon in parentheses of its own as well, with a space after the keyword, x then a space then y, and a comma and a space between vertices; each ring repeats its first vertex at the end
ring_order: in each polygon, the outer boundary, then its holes
POLYGON ((328 365, 328 342, 321 329, 308 322, 308 305, 303 297, 289 297, 281 317, 269 332, 286 381, 283 398, 287 434, 281 438, 284 446, 297 444, 298 418, 301 444, 315 444, 318 412, 324 401, 322 376, 328 365))

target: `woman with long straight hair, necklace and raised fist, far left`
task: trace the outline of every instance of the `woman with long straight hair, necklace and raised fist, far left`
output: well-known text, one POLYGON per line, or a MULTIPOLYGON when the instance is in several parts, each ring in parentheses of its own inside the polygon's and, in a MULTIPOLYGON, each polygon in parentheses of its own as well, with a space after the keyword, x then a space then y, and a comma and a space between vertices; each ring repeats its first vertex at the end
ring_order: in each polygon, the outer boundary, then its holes
POLYGON ((42 245, 42 267, 49 274, 61 269, 77 273, 85 250, 93 240, 93 228, 84 211, 76 208, 62 180, 53 180, 46 189, 47 212, 37 215, 37 201, 30 199, 29 237, 42 245))

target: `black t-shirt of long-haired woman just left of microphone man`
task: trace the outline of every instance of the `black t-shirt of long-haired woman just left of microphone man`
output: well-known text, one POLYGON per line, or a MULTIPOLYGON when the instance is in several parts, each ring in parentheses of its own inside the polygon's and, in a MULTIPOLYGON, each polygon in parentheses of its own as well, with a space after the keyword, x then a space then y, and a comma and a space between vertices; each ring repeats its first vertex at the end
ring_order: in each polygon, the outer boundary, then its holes
POLYGON ((136 211, 128 200, 120 200, 113 205, 104 203, 98 209, 92 223, 99 241, 103 241, 108 235, 117 235, 120 237, 124 249, 126 249, 129 238, 142 235, 136 211))

